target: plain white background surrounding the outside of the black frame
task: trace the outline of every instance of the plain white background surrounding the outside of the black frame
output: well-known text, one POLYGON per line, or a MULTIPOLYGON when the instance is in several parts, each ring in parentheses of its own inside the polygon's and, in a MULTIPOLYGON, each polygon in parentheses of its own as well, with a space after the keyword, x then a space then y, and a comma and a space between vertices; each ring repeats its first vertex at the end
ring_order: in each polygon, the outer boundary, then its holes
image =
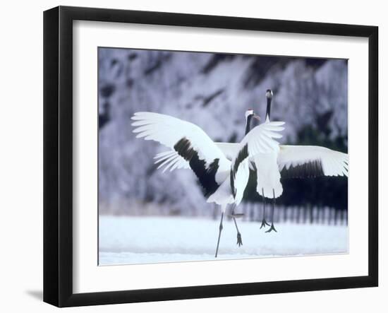
MULTIPOLYGON (((42 298, 42 11, 58 4, 132 8, 152 11, 249 16, 311 20, 332 23, 355 23, 380 26, 380 107, 382 87, 388 81, 382 55, 387 54, 388 21, 383 1, 363 1, 363 5, 339 1, 314 4, 311 1, 35 1, 24 4, 7 1, 2 5, 0 91, 1 91, 1 222, 0 222, 0 307, 4 312, 51 312, 56 308, 42 298), (270 6, 269 6, 270 5, 270 6)), ((363 108, 360 108, 363 110, 363 108)), ((386 111, 386 110, 385 110, 386 111)), ((382 125, 380 135, 387 129, 382 125)), ((388 117, 385 117, 388 119, 388 117)), ((363 122, 363 121, 360 121, 363 122)), ((382 140, 380 138, 380 142, 382 140)), ((387 147, 382 146, 382 155, 387 147)), ((380 151, 381 151, 380 150, 380 151)), ((382 157, 380 154, 380 157, 382 157)), ((380 166, 383 176, 384 165, 380 166)), ((385 179, 380 179, 383 182, 385 179)), ((380 194, 382 187, 380 185, 380 194)), ((67 311, 90 312, 197 312, 217 310, 244 312, 271 310, 285 312, 384 312, 388 305, 387 228, 382 228, 384 204, 380 198, 380 287, 358 290, 331 290, 282 295, 257 295, 217 299, 183 300, 83 307, 67 311), (384 247, 385 244, 385 247, 384 247), (381 309, 379 308, 381 307, 381 309), (384 309, 385 307, 385 309, 384 309)))

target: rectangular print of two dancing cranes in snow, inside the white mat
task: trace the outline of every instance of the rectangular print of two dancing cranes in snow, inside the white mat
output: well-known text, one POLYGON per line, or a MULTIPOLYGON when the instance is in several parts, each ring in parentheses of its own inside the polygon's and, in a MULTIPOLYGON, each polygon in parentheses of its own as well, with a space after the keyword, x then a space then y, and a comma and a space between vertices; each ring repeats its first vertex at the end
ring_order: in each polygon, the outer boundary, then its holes
POLYGON ((348 61, 98 48, 99 265, 348 253, 348 61))

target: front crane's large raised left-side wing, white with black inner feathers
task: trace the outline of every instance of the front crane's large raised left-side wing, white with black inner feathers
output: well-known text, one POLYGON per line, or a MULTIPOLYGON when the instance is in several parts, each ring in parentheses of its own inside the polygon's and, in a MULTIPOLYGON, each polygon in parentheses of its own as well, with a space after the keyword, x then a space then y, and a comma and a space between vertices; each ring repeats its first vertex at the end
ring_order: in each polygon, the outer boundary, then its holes
POLYGON ((132 119, 136 138, 157 141, 178 154, 172 154, 171 150, 162 155, 159 153, 157 162, 168 164, 170 169, 187 167, 187 163, 205 189, 206 196, 217 190, 227 177, 230 161, 197 125, 153 112, 137 112, 132 119))

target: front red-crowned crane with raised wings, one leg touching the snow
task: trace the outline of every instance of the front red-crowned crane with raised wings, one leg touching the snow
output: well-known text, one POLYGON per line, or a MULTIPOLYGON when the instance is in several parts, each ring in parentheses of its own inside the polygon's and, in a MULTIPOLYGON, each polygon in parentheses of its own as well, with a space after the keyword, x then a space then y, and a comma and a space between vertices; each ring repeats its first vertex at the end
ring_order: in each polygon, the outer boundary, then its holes
MULTIPOLYGON (((247 125, 250 124, 250 118, 255 116, 253 110, 250 111, 245 114, 247 125)), ((236 143, 236 154, 229 160, 227 153, 220 147, 226 146, 214 143, 205 131, 195 124, 154 112, 136 112, 132 119, 135 121, 132 126, 136 127, 133 130, 137 134, 136 138, 157 141, 170 148, 169 151, 156 156, 156 163, 162 163, 159 167, 165 166, 164 170, 190 168, 202 185, 207 202, 221 206, 215 253, 217 257, 226 206, 232 203, 237 206, 243 199, 249 178, 248 162, 253 155, 279 149, 279 143, 274 138, 281 138, 278 132, 284 129, 281 127, 284 122, 269 122, 248 131, 241 143, 236 143)), ((245 129, 248 128, 249 126, 245 126, 245 129)), ((236 224, 236 220, 234 221, 236 224)), ((242 244, 239 232, 237 243, 242 244)))

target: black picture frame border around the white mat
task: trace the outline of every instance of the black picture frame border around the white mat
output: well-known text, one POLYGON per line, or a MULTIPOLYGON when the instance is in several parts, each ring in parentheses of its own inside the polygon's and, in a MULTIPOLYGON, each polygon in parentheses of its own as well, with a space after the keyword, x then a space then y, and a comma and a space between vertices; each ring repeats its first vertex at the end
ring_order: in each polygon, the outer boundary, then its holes
POLYGON ((44 11, 44 302, 73 307, 377 286, 377 208, 377 27, 68 6, 44 11), (73 293, 73 20, 368 38, 368 276, 73 293))

